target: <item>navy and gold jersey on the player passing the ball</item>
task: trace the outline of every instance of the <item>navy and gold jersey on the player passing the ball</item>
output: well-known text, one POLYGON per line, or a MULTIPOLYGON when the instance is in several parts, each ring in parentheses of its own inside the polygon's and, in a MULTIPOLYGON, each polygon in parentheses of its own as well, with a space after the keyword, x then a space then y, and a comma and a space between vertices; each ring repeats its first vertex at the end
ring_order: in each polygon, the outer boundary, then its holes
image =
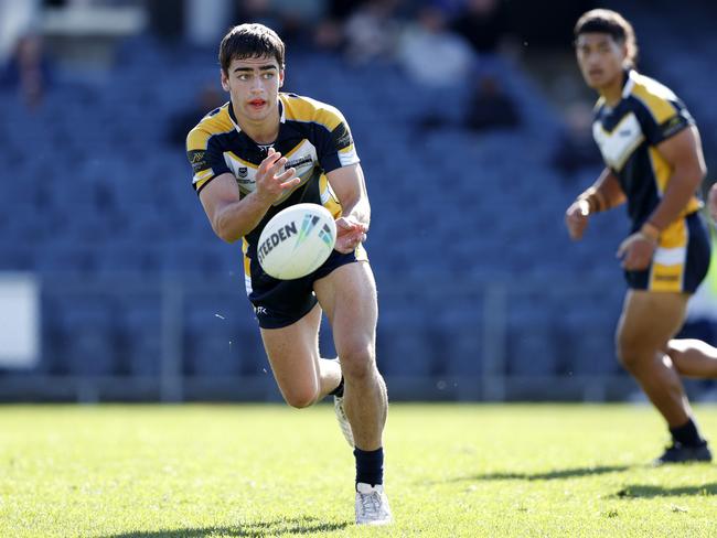
MULTIPOLYGON (((256 244, 266 223, 289 205, 321 204, 339 217, 341 205, 325 174, 358 162, 349 126, 336 108, 283 93, 279 94, 278 106, 279 134, 270 147, 286 157, 286 168, 293 166, 301 182, 285 193, 244 237, 244 252, 252 259, 256 258, 256 244)), ((231 173, 236 179, 239 196, 247 195, 256 187, 256 172, 268 148, 258 146, 239 129, 231 101, 213 110, 186 138, 194 190, 199 193, 214 177, 231 173)))

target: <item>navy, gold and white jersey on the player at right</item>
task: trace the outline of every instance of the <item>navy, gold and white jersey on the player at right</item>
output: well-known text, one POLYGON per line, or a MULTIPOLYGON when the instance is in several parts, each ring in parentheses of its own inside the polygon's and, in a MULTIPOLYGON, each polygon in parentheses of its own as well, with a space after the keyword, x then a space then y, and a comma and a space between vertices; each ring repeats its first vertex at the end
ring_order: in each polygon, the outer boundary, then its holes
MULTIPOLYGON (((670 88, 635 71, 625 73, 618 106, 610 108, 603 98, 598 100, 592 136, 628 197, 633 230, 657 206, 673 172, 656 146, 692 123, 692 116, 670 88)), ((700 206, 693 196, 682 216, 700 206)))

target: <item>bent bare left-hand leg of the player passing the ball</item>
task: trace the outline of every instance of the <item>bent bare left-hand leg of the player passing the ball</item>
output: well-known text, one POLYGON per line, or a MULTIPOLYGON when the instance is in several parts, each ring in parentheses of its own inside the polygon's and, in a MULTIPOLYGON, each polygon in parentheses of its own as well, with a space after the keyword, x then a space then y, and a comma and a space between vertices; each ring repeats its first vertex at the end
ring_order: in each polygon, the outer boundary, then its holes
POLYGON ((292 407, 315 404, 341 380, 336 361, 319 357, 321 308, 281 329, 263 329, 261 340, 283 399, 292 407))

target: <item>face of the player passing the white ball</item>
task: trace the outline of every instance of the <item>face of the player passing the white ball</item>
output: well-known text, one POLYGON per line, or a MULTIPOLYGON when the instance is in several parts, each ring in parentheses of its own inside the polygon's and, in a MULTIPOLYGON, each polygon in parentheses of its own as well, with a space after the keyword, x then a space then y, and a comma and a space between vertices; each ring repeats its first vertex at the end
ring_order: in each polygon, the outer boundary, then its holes
POLYGON ((283 69, 275 57, 233 60, 228 73, 222 69, 222 87, 232 96, 239 120, 260 123, 277 114, 283 69))

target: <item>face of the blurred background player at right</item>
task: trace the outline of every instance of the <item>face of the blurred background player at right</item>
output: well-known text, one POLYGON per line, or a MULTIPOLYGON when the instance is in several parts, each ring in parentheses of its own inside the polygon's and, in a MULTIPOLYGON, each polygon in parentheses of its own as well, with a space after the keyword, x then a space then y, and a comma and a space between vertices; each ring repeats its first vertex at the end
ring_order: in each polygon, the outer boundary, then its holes
POLYGON ((627 47, 607 33, 584 33, 576 42, 576 54, 582 77, 595 89, 611 86, 620 80, 627 47))

